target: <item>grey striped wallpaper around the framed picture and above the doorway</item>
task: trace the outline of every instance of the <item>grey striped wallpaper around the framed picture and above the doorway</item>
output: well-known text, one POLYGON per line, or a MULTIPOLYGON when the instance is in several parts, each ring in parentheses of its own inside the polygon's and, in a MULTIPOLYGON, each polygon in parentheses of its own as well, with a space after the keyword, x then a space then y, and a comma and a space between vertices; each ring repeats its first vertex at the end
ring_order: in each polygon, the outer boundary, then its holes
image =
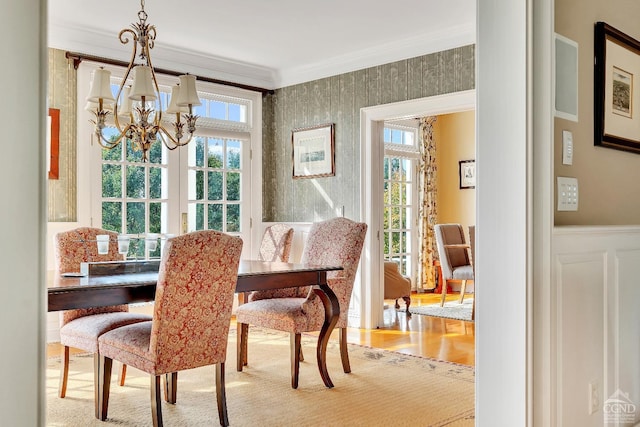
POLYGON ((360 109, 475 88, 475 45, 277 89, 263 98, 263 218, 360 216, 360 109), (293 179, 291 131, 335 123, 335 176, 293 179))

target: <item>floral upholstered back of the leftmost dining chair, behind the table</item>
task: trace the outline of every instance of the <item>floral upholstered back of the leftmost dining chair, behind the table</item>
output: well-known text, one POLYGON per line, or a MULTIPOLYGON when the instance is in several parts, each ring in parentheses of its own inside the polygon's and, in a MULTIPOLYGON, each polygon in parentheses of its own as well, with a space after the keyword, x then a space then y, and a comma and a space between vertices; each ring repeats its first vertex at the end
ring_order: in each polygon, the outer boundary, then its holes
MULTIPOLYGON (((79 272, 82 262, 122 261, 124 256, 118 253, 118 233, 102 228, 79 227, 74 230, 62 231, 54 236, 54 257, 56 274, 79 272), (96 236, 109 236, 109 252, 98 254, 96 236)), ((128 305, 112 305, 108 307, 66 310, 60 312, 60 326, 79 317, 91 314, 129 311, 128 305)))

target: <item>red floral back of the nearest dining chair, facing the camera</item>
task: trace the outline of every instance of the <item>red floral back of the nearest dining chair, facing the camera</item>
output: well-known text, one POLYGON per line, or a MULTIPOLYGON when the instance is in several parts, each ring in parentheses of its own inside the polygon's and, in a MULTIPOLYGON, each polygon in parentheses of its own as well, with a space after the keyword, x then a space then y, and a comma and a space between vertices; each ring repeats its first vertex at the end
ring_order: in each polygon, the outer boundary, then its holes
POLYGON ((157 372, 224 362, 242 239, 203 230, 167 240, 149 351, 157 372))

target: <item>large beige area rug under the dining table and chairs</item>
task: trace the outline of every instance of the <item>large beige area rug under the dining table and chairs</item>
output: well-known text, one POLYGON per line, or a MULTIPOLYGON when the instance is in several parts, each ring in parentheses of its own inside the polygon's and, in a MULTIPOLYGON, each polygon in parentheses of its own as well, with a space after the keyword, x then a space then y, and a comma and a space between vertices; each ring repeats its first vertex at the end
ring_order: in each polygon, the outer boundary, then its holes
MULTIPOLYGON (((336 341, 327 349, 335 385, 324 386, 313 336, 303 336, 300 383, 291 388, 289 336, 251 328, 249 365, 235 368, 235 330, 226 363, 231 426, 473 426, 474 369, 469 366, 349 345, 351 373, 342 371, 336 341)), ((149 377, 127 370, 124 387, 114 373, 106 422, 94 418, 91 355, 72 356, 64 399, 57 397, 60 360, 47 360, 48 426, 150 426, 149 377)), ((117 368, 114 365, 114 371, 117 368)), ((178 374, 178 401, 163 401, 165 426, 219 425, 215 368, 178 374)))

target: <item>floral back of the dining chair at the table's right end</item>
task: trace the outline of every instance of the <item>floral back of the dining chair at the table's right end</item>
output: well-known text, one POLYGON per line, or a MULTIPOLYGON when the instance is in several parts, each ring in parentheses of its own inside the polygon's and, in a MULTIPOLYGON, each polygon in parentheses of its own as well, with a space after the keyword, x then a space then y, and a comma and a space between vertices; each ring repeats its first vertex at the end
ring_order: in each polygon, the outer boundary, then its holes
MULTIPOLYGON (((344 269, 327 273, 327 284, 340 302, 336 327, 347 325, 351 291, 366 234, 367 224, 342 217, 317 222, 309 230, 302 263, 340 265, 344 269)), ((308 291, 307 299, 310 298, 315 298, 312 290, 308 291)))

